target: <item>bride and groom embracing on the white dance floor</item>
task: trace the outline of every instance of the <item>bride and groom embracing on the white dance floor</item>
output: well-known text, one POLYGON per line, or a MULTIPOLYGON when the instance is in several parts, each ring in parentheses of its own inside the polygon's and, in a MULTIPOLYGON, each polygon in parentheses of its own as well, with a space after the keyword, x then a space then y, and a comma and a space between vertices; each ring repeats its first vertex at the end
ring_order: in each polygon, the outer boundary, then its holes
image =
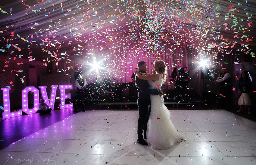
POLYGON ((156 74, 148 74, 147 64, 137 64, 135 85, 138 90, 138 143, 151 145, 153 149, 169 149, 183 140, 170 120, 170 112, 164 105, 161 87, 167 80, 167 66, 162 60, 155 61, 156 74), (144 139, 143 133, 144 131, 144 139))

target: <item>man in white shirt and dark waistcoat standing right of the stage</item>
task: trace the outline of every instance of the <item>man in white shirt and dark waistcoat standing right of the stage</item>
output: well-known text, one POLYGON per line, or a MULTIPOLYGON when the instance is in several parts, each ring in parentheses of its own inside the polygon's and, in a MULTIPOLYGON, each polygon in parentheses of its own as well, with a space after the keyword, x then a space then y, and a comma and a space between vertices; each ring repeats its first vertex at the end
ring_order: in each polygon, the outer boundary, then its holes
POLYGON ((231 103, 231 75, 227 72, 226 68, 221 68, 221 73, 218 76, 217 80, 213 80, 216 84, 220 85, 220 94, 221 96, 221 105, 224 109, 230 109, 231 103))

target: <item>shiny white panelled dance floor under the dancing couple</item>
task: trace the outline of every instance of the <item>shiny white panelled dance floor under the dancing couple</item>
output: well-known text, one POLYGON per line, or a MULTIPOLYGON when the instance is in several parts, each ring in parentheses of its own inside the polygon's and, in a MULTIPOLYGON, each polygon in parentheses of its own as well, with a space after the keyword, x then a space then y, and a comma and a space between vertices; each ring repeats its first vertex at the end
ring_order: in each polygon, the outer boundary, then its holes
POLYGON ((136 110, 86 111, 73 114, 3 149, 0 163, 256 164, 255 122, 225 110, 172 110, 170 113, 174 126, 186 137, 186 142, 168 150, 154 150, 137 143, 139 113, 136 110))

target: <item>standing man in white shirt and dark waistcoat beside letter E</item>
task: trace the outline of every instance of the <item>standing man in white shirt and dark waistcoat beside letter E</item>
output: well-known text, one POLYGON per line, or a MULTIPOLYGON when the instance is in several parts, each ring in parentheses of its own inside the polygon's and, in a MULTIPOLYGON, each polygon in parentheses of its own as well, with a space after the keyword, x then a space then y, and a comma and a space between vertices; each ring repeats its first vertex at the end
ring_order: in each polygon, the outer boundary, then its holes
POLYGON ((83 73, 79 74, 79 78, 76 79, 76 101, 75 101, 75 106, 74 106, 74 112, 76 112, 77 107, 80 105, 81 109, 83 112, 84 106, 85 106, 85 92, 84 88, 86 87, 86 79, 83 78, 83 73))

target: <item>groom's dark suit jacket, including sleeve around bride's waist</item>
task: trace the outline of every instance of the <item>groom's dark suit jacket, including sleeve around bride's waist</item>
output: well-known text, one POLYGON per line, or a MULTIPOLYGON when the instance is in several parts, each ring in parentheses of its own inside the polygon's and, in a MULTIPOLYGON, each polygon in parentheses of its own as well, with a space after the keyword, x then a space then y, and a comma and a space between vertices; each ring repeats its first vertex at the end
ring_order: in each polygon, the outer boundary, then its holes
POLYGON ((135 76, 135 85, 138 91, 137 105, 150 105, 150 95, 158 95, 157 89, 150 89, 148 81, 135 76))

